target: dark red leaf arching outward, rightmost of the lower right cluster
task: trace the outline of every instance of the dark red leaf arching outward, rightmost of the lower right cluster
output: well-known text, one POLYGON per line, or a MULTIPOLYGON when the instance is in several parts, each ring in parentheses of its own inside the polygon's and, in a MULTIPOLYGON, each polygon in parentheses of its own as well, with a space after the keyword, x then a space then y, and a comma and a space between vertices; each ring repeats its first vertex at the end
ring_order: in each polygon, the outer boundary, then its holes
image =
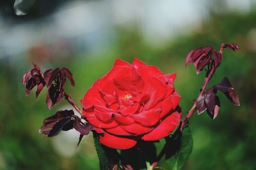
POLYGON ((237 96, 234 86, 232 85, 230 80, 228 80, 227 77, 223 78, 223 80, 220 83, 218 83, 217 85, 214 85, 214 89, 218 89, 221 92, 223 92, 225 94, 225 96, 227 96, 227 98, 234 105, 236 105, 236 106, 240 105, 239 97, 237 96))

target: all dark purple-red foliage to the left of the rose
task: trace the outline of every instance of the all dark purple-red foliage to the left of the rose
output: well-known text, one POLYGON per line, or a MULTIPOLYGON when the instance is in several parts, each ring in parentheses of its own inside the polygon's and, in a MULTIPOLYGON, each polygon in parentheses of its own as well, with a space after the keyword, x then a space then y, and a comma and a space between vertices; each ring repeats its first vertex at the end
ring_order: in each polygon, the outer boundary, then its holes
MULTIPOLYGON (((42 73, 40 67, 34 63, 33 66, 33 69, 27 71, 22 77, 22 84, 26 85, 26 96, 28 96, 31 90, 37 85, 37 97, 46 86, 46 104, 47 107, 51 109, 63 96, 68 96, 63 90, 67 78, 70 80, 71 85, 75 86, 72 73, 67 68, 48 69, 42 73)), ((68 96, 67 100, 71 102, 70 96, 68 96)), ((74 104, 73 102, 71 103, 74 104)), ((81 118, 74 115, 73 110, 63 110, 57 111, 51 117, 45 118, 39 132, 44 134, 44 136, 52 137, 59 134, 60 131, 69 131, 70 129, 76 129, 76 131, 80 132, 80 143, 83 136, 93 130, 93 126, 88 123, 83 123, 81 118)))

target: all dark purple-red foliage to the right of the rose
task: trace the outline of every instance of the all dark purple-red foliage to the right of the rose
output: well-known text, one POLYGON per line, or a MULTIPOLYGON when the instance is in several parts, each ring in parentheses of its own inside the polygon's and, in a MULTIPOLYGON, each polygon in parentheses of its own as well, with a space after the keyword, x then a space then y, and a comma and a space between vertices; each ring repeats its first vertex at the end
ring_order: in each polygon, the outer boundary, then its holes
MULTIPOLYGON (((225 48, 230 48, 234 51, 239 50, 239 46, 236 43, 225 44, 224 42, 221 44, 220 52, 214 50, 212 46, 196 48, 188 53, 186 57, 186 66, 193 62, 197 73, 200 73, 200 71, 207 66, 205 80, 209 81, 216 68, 220 66, 225 48), (209 75, 210 70, 212 71, 211 75, 209 75)), ((234 86, 230 80, 225 77, 217 85, 206 90, 206 92, 200 93, 200 96, 198 96, 195 102, 198 115, 206 110, 212 119, 218 116, 218 112, 220 111, 220 99, 216 96, 218 90, 223 92, 234 105, 239 106, 239 98, 234 90, 234 86)))

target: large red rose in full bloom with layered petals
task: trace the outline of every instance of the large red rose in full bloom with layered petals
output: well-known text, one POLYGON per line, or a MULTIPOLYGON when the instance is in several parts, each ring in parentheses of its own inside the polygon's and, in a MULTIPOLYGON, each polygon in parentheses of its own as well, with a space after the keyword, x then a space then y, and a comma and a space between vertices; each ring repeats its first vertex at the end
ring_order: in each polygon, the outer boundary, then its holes
POLYGON ((138 139, 156 141, 180 123, 176 74, 163 74, 138 59, 117 59, 111 71, 93 83, 83 98, 83 117, 95 127, 100 143, 127 149, 138 139))

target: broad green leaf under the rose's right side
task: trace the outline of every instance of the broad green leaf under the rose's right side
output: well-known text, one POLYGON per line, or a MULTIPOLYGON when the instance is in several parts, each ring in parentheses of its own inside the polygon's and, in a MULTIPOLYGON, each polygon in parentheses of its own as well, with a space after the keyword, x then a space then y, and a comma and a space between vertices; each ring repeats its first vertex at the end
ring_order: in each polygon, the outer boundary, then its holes
POLYGON ((183 132, 177 130, 172 138, 166 139, 165 155, 157 164, 157 168, 179 170, 184 166, 192 152, 193 139, 189 127, 183 132))

